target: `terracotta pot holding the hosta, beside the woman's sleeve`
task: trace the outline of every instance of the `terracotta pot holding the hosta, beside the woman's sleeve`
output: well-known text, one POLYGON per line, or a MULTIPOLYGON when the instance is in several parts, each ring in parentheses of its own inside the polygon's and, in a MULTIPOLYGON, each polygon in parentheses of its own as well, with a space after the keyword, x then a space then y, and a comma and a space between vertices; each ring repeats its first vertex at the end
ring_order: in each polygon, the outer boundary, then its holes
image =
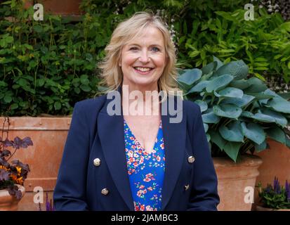
POLYGON ((218 194, 220 195, 220 211, 250 211, 251 203, 245 203, 245 188, 254 190, 258 167, 261 158, 256 155, 243 155, 239 163, 229 158, 213 158, 218 176, 218 194))

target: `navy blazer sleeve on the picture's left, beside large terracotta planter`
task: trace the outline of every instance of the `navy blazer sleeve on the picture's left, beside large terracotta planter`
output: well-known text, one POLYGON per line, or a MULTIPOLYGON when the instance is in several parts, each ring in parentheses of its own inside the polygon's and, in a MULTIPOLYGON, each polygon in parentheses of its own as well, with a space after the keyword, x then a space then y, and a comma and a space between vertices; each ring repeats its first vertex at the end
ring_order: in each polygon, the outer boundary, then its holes
POLYGON ((55 210, 88 210, 86 173, 89 152, 89 129, 86 112, 76 103, 63 150, 62 162, 53 193, 55 210))

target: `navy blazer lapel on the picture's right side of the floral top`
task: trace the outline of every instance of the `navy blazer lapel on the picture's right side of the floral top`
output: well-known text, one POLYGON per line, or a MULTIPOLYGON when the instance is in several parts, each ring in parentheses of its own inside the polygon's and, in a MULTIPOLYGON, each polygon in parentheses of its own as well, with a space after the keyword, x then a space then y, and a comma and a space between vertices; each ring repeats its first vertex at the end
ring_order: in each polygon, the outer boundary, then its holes
MULTIPOLYGON (((164 107, 162 107, 162 110, 164 110, 164 107)), ((173 194, 173 190, 180 174, 180 169, 183 165, 185 153, 186 117, 183 115, 181 122, 171 123, 171 116, 168 112, 169 110, 167 108, 166 115, 162 115, 162 129, 165 149, 165 174, 162 189, 162 211, 169 203, 171 195, 173 194)), ((181 113, 183 113, 183 110, 181 110, 181 113)), ((176 115, 174 117, 176 117, 176 115)))

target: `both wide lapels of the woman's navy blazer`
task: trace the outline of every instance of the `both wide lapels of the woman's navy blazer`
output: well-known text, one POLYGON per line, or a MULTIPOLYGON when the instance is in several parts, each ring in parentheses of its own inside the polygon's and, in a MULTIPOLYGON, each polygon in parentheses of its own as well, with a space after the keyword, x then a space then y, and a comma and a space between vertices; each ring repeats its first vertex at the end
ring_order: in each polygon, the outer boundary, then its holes
MULTIPOLYGON (((117 89, 121 96, 121 87, 117 89)), ((168 103, 167 98, 167 103, 168 103)), ((103 148, 107 167, 110 170, 114 184, 121 194, 124 202, 130 210, 134 210, 131 194, 130 181, 126 165, 125 143, 124 143, 124 117, 121 108, 121 115, 109 115, 106 103, 98 115, 98 134, 103 148)), ((167 110, 169 104, 162 103, 162 112, 167 110)), ((176 186, 180 169, 182 167, 185 148, 186 118, 183 113, 183 120, 180 123, 170 123, 171 115, 162 115, 162 129, 165 149, 165 173, 162 189, 162 210, 169 203, 173 190, 176 186)), ((175 116, 172 116, 175 117, 175 116)))

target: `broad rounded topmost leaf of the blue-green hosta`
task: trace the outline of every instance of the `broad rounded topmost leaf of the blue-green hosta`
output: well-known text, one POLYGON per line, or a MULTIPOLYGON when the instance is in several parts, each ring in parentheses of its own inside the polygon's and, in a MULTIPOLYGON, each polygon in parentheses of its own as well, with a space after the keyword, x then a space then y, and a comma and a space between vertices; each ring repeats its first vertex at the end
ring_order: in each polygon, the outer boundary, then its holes
POLYGON ((243 60, 237 60, 223 65, 214 73, 215 76, 232 75, 235 80, 244 79, 248 75, 249 68, 243 60))

